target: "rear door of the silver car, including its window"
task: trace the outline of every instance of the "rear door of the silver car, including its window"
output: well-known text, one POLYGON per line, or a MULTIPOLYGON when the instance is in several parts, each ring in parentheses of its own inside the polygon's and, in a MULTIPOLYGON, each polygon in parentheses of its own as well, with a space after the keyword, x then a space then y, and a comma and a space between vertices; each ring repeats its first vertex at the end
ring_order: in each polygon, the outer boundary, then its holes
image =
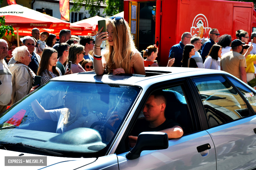
POLYGON ((256 167, 256 116, 241 92, 223 76, 192 81, 208 120, 206 131, 215 145, 217 169, 256 167))

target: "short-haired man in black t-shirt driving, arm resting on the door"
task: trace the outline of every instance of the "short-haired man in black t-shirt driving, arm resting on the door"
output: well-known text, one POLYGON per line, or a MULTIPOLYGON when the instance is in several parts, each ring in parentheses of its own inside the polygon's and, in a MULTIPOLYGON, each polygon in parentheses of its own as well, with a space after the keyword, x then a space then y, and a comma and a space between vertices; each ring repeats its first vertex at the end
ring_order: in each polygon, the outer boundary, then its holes
POLYGON ((164 116, 166 96, 162 90, 153 92, 143 108, 145 119, 137 120, 129 136, 129 144, 134 147, 141 132, 164 132, 169 139, 180 138, 183 135, 181 125, 164 116))

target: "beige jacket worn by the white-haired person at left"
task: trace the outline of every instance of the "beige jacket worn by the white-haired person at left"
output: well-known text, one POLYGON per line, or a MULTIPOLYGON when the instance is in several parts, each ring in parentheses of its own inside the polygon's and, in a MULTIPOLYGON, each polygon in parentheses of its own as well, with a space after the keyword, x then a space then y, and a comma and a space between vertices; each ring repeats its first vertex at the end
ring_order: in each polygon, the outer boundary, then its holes
POLYGON ((32 75, 29 67, 24 64, 11 64, 8 66, 12 74, 11 105, 27 96, 32 88, 32 75))

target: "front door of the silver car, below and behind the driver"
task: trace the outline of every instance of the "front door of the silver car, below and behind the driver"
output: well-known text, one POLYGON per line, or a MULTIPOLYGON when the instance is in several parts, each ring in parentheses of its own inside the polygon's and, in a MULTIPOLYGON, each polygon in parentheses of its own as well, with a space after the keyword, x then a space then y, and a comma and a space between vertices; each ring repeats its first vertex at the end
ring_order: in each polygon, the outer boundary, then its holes
MULTIPOLYGON (((153 89, 156 90, 159 87, 153 87, 153 89)), ((199 117, 196 102, 186 81, 161 89, 167 95, 165 117, 180 123, 186 134, 181 138, 169 140, 167 149, 142 151, 140 157, 134 160, 126 158, 128 152, 118 154, 119 169, 216 170, 213 141, 207 131, 202 130, 201 123, 196 118, 199 117)), ((145 97, 149 97, 151 92, 145 97)), ((139 119, 142 117, 143 114, 140 114, 139 119)))

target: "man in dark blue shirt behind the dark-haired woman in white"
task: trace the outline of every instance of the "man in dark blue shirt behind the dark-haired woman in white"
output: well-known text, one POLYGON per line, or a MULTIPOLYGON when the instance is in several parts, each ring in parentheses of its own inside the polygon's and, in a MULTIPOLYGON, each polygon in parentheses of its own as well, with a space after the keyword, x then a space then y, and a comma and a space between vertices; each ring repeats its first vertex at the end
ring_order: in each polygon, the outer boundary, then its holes
POLYGON ((206 59, 206 56, 209 54, 211 47, 214 44, 216 44, 216 42, 220 38, 220 33, 219 33, 218 29, 212 28, 209 32, 209 37, 210 37, 210 39, 203 44, 203 49, 202 49, 202 53, 201 53, 203 62, 206 59))

